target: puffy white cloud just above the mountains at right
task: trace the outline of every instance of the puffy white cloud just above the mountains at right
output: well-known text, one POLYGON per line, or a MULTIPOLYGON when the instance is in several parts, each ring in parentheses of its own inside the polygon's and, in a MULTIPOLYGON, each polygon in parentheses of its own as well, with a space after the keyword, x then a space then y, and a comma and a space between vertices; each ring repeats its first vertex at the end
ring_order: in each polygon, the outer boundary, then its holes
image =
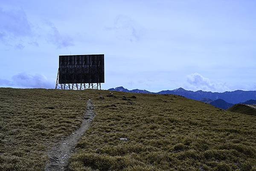
POLYGON ((221 81, 211 81, 209 78, 198 74, 197 72, 187 75, 188 87, 193 90, 203 91, 217 91, 224 92, 230 90, 230 88, 221 81))

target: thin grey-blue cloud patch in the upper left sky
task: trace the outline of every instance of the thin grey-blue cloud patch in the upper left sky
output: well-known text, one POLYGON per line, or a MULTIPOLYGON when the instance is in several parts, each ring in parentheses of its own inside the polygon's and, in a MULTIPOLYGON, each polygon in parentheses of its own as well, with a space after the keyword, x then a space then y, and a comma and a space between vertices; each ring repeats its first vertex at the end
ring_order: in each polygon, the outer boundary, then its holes
POLYGON ((46 25, 40 21, 32 25, 23 9, 0 8, 0 42, 22 50, 26 44, 39 46, 40 38, 58 49, 74 44, 69 35, 61 34, 49 21, 46 25))

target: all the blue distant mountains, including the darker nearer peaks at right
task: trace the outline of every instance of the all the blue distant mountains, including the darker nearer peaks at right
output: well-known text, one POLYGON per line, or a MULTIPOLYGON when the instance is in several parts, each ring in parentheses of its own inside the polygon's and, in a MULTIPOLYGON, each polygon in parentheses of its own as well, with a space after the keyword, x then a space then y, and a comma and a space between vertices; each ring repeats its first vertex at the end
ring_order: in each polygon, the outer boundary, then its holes
POLYGON ((183 88, 178 88, 175 90, 163 90, 157 93, 149 92, 147 90, 128 90, 124 87, 116 87, 108 89, 110 91, 120 91, 126 93, 146 93, 146 94, 174 94, 179 96, 184 96, 188 99, 193 99, 197 101, 201 101, 207 104, 211 104, 215 107, 219 107, 221 109, 228 109, 235 104, 256 104, 256 91, 226 91, 224 93, 217 92, 206 92, 202 90, 198 91, 189 91, 183 88))

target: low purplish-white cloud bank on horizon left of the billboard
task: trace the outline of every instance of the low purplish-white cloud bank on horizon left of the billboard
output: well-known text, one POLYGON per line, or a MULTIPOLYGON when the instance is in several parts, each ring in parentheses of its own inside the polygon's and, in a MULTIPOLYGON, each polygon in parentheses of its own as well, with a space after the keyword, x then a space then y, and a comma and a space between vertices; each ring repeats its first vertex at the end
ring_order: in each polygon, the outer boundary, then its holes
POLYGON ((55 88, 54 83, 50 82, 44 75, 30 75, 24 72, 13 75, 11 80, 0 79, 0 85, 15 88, 55 88))

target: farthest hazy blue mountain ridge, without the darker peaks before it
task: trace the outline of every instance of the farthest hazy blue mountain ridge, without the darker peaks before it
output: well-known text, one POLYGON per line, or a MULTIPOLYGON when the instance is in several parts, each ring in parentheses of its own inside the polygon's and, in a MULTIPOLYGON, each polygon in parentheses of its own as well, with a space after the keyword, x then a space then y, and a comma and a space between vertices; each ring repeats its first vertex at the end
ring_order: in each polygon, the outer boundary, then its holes
MULTIPOLYGON (((109 89, 111 91, 122 91, 122 92, 130 92, 130 93, 153 93, 149 92, 147 90, 127 90, 124 87, 116 87, 115 89, 109 89)), ((227 101, 228 103, 237 104, 241 103, 250 99, 256 100, 256 91, 243 91, 243 90, 236 90, 236 91, 226 91, 224 93, 217 93, 217 92, 206 92, 202 90, 198 91, 189 91, 185 90, 183 88, 178 88, 175 90, 163 90, 155 94, 175 94, 184 96, 188 99, 194 99, 200 101, 201 99, 207 98, 217 100, 217 99, 223 99, 224 101, 227 101)))

